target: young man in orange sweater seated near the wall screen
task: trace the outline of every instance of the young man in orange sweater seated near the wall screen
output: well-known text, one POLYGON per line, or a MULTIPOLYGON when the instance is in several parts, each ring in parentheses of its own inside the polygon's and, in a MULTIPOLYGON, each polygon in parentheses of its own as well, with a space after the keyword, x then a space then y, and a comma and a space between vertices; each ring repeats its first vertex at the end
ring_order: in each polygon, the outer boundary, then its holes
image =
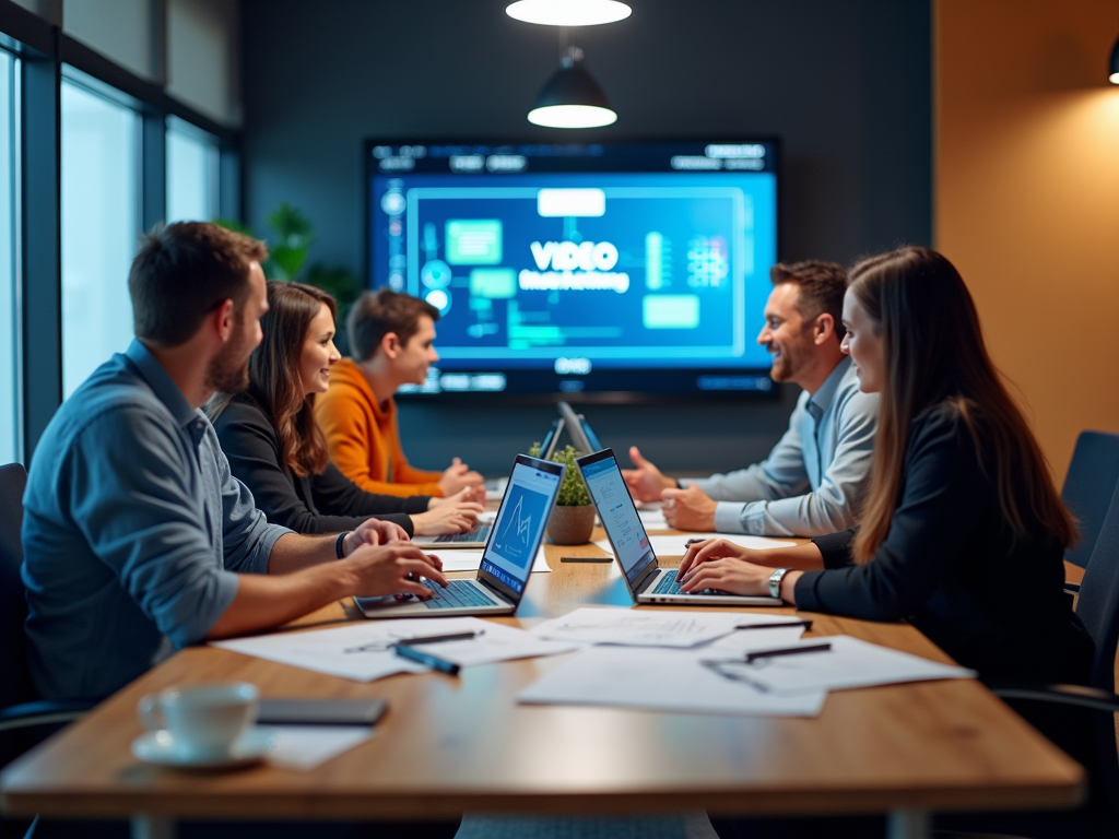
POLYGON ((408 465, 401 447, 393 394, 422 385, 439 360, 432 342, 439 310, 388 289, 365 292, 346 321, 352 358, 330 370, 330 387, 314 403, 330 460, 367 492, 485 499, 482 477, 458 458, 442 472, 408 465))

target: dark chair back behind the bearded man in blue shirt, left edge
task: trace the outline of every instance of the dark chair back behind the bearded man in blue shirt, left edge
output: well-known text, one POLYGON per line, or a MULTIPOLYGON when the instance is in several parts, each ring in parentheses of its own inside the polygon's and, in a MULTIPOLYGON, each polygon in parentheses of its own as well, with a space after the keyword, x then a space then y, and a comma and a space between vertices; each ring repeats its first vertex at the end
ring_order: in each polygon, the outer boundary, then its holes
POLYGON ((27 598, 19 575, 23 564, 20 528, 27 472, 19 463, 0 466, 0 707, 34 699, 27 673, 23 620, 27 598))

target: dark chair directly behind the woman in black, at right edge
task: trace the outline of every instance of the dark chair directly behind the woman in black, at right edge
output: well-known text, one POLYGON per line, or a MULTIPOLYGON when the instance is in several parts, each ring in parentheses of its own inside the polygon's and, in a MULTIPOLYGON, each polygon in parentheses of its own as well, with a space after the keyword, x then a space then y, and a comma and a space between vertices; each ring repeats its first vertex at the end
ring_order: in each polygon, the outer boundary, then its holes
MULTIPOLYGON (((1084 569, 1076 598, 1076 614, 1096 642, 1092 686, 1115 690, 1116 652, 1119 647, 1119 488, 1111 492, 1096 547, 1084 569)), ((1115 719, 1111 714, 1093 714, 1093 741, 1103 781, 1116 812, 1119 812, 1119 753, 1116 751, 1115 719)))

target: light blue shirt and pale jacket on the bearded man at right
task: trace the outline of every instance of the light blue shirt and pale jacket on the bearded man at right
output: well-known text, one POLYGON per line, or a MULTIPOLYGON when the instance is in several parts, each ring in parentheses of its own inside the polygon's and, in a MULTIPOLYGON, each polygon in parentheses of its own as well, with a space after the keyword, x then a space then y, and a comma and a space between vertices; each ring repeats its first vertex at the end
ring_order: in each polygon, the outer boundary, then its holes
POLYGON ((680 483, 694 483, 718 502, 720 532, 822 536, 846 530, 855 524, 871 472, 877 424, 878 395, 859 392, 845 358, 815 394, 800 395, 789 430, 769 458, 680 483))

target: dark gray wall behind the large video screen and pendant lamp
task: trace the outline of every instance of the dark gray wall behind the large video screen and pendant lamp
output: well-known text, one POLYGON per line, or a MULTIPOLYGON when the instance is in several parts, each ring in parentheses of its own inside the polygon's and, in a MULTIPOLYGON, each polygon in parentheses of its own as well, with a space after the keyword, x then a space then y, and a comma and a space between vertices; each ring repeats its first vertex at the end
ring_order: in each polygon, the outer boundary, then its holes
MULTIPOLYGON (((247 220, 261 228, 291 201, 318 229, 311 258, 360 272, 365 138, 548 136, 525 113, 555 69, 556 31, 511 20, 508 2, 243 0, 247 220)), ((931 242, 928 0, 631 6, 629 20, 574 32, 619 113, 601 136, 780 135, 786 260, 847 263, 931 242)), ((764 456, 794 398, 586 413, 608 445, 637 443, 669 469, 713 470, 764 456)), ((492 473, 553 416, 401 411, 419 465, 460 454, 492 473)))

